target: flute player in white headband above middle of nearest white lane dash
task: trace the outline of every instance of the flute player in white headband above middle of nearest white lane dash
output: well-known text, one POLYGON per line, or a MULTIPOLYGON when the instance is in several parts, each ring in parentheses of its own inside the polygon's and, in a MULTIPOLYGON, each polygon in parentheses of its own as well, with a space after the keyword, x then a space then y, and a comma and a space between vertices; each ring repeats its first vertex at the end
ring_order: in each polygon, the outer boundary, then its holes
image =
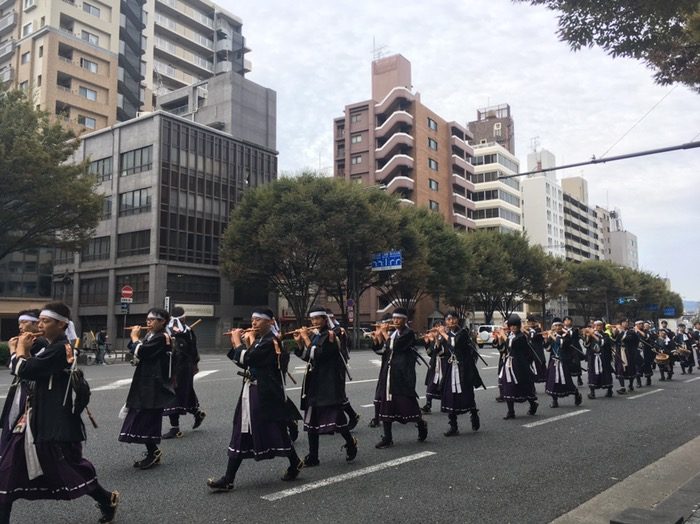
POLYGON ((345 440, 345 459, 350 462, 357 456, 357 439, 348 428, 349 422, 343 410, 345 396, 345 362, 340 350, 340 340, 330 329, 326 310, 311 309, 309 318, 313 333, 307 329, 294 333, 297 348, 294 353, 305 361, 306 372, 301 387, 301 409, 304 411, 304 431, 309 436, 309 454, 304 457, 304 467, 319 465, 319 435, 340 433, 345 440))

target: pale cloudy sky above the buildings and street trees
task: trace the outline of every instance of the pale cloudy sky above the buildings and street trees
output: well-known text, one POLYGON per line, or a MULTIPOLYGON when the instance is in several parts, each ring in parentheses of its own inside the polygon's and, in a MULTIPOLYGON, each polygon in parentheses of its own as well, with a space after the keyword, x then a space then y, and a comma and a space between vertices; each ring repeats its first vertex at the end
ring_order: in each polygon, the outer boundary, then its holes
MULTIPOLYGON (((370 98, 371 62, 400 53, 446 120, 511 106, 526 171, 533 139, 558 165, 700 140, 700 94, 659 86, 643 63, 556 37, 556 13, 510 0, 217 0, 243 20, 247 78, 277 92, 280 174, 332 174, 333 118, 370 98), (381 6, 381 8, 380 8, 381 6)), ((700 300, 700 148, 560 171, 589 205, 619 209, 640 269, 700 300)))

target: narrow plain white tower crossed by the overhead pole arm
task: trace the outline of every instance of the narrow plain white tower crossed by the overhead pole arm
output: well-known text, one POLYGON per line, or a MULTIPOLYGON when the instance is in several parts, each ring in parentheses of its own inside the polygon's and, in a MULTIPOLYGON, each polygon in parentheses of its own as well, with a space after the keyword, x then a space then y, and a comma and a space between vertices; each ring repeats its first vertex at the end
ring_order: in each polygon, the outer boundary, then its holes
MULTIPOLYGON (((542 149, 529 153, 527 170, 550 169, 556 166, 554 155, 542 149)), ((550 255, 566 256, 564 237, 564 193, 556 171, 528 175, 520 180, 525 234, 550 255)))

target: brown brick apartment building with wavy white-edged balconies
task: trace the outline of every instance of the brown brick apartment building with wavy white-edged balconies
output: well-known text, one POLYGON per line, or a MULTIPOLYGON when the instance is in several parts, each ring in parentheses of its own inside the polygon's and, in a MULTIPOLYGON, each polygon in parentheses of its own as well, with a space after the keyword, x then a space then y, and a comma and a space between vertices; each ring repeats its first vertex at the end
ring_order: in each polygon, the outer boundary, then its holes
POLYGON ((474 151, 466 127, 425 106, 401 55, 372 62, 372 98, 345 107, 334 128, 334 175, 381 185, 405 203, 474 229, 474 151))

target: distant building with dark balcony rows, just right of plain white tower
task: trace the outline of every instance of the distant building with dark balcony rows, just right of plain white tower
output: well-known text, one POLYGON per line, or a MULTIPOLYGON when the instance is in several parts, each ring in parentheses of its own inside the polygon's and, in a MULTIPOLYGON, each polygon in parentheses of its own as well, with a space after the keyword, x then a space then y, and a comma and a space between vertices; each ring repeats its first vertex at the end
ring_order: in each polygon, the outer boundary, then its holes
POLYGON ((598 215, 588 205, 588 183, 574 176, 561 180, 564 191, 564 239, 567 260, 602 260, 598 215))

